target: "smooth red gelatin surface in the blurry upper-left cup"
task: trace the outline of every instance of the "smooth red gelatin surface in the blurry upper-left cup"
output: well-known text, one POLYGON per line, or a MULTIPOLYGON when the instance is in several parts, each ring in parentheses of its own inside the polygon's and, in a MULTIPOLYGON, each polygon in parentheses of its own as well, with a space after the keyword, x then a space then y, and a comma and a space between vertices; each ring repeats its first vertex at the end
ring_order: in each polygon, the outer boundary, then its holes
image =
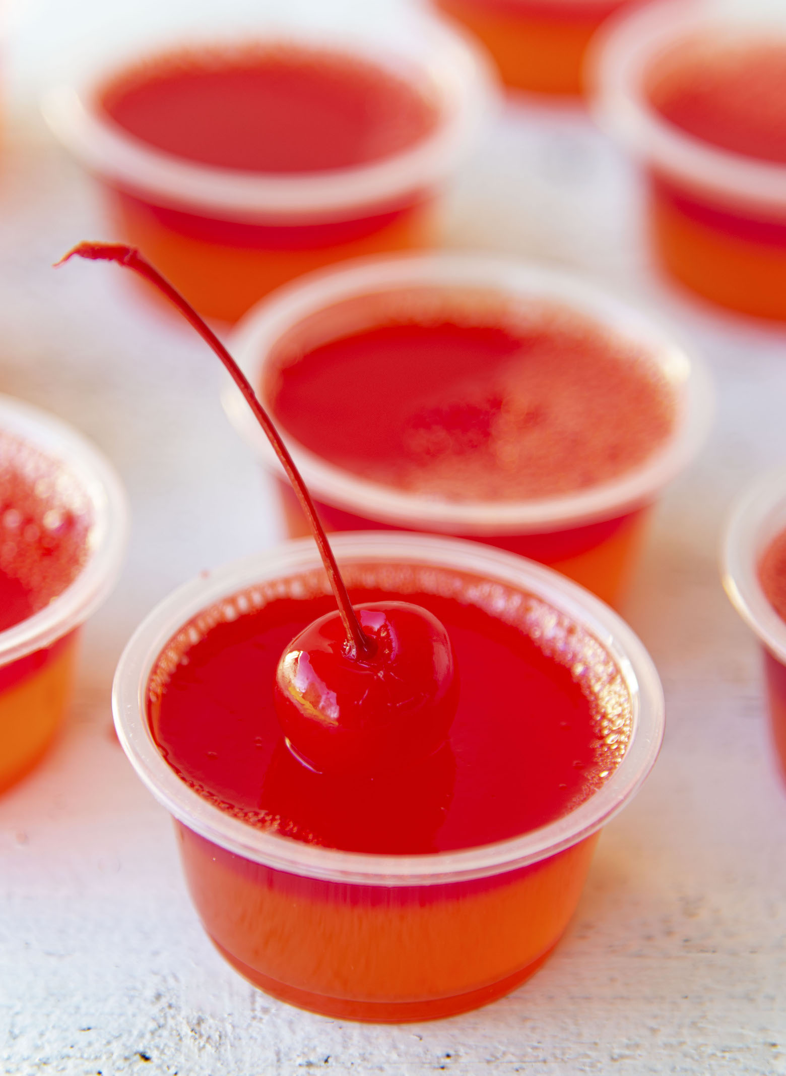
POLYGON ((248 172, 353 168, 413 146, 438 110, 383 67, 295 45, 151 59, 100 94, 129 134, 200 165, 248 172))

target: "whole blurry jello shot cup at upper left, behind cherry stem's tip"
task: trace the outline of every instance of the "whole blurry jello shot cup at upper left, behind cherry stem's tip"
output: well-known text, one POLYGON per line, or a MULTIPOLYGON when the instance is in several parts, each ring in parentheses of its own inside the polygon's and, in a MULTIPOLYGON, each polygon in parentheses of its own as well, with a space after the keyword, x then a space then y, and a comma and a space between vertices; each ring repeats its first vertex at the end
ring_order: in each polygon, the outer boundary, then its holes
POLYGON ((490 67, 425 11, 356 15, 185 28, 46 96, 119 236, 201 314, 233 322, 309 270, 438 238, 490 67))

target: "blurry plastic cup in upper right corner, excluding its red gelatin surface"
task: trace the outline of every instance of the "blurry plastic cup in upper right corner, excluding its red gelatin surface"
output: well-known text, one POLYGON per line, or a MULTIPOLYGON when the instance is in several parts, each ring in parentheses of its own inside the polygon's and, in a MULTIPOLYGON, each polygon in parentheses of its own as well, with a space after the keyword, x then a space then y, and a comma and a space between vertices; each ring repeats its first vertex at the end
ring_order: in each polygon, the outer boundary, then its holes
MULTIPOLYGON (((786 165, 702 141, 669 123, 652 89, 683 60, 745 42, 782 41, 752 5, 668 0, 615 19, 592 46, 588 81, 599 123, 642 164, 651 242, 690 291, 759 317, 786 318, 786 165)), ((783 13, 782 13, 783 14, 783 13)))

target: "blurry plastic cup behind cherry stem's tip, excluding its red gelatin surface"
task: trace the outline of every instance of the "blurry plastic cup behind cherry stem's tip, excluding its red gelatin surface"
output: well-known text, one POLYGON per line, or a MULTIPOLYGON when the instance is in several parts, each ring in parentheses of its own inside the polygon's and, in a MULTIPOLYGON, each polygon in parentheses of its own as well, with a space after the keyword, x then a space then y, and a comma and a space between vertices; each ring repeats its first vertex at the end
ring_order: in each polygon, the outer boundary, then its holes
MULTIPOLYGON (((353 23, 312 25, 259 12, 243 32, 181 27, 143 47, 105 49, 78 79, 51 90, 44 115, 101 182, 120 235, 205 315, 235 321, 260 296, 303 272, 359 255, 421 247, 438 233, 445 184, 471 148, 494 96, 485 58, 442 20, 415 9, 395 18, 356 11, 353 23), (130 137, 98 108, 113 76, 141 60, 283 43, 377 63, 435 102, 433 129, 355 167, 299 173, 220 169, 130 137)), ((318 14, 318 13, 315 13, 318 14)))

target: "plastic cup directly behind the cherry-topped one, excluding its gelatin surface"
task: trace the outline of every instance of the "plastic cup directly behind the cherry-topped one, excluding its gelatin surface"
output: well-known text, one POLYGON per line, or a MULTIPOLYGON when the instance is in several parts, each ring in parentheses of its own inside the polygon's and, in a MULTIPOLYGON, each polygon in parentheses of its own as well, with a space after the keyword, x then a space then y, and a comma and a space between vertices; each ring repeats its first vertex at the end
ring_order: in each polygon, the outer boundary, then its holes
MULTIPOLYGON (((677 415, 672 436, 644 463, 618 479, 577 493, 526 501, 447 501, 406 493, 359 478, 288 440, 325 524, 334 530, 430 530, 506 549, 548 564, 614 604, 621 597, 644 534, 649 506, 691 459, 710 423, 712 392, 695 357, 627 303, 555 269, 474 254, 432 254, 367 260, 282 289, 238 326, 232 353, 266 399, 266 370, 289 332, 309 345, 332 335, 368 327, 384 316, 386 298, 417 292, 478 289, 505 301, 557 302, 586 315, 612 337, 644 345, 674 388, 677 415), (357 322, 355 322, 357 318, 357 322)), ((233 385, 224 405, 230 421, 262 466, 282 476, 277 461, 233 385)), ((283 430, 285 434, 286 431, 283 430)), ((282 478, 280 490, 290 537, 306 533, 302 512, 282 478)))

